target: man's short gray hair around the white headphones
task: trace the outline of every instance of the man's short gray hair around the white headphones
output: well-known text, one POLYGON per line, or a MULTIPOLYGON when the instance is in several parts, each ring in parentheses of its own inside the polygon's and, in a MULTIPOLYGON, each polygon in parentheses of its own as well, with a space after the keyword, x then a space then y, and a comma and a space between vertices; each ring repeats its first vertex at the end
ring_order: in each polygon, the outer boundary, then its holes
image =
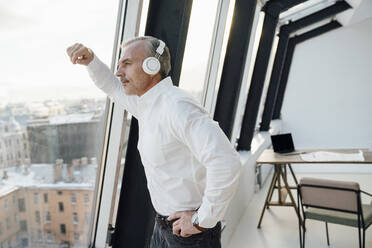
MULTIPOLYGON (((159 47, 160 41, 159 39, 152 37, 152 36, 139 36, 135 37, 133 39, 127 40, 123 43, 121 48, 136 42, 136 41, 146 41, 146 55, 148 57, 155 57, 156 56, 156 49, 159 47)), ((163 78, 166 78, 171 70, 171 64, 170 64, 170 53, 167 45, 164 47, 164 52, 160 57, 158 58, 160 62, 160 76, 163 78)))

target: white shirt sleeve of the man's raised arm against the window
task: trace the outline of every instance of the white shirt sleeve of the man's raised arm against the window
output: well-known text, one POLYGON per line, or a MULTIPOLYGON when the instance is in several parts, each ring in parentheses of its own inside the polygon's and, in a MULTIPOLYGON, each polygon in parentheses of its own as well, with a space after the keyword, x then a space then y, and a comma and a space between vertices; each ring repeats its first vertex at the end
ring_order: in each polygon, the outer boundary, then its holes
POLYGON ((111 97, 115 103, 122 105, 128 112, 138 117, 138 96, 126 95, 120 80, 96 55, 87 66, 87 70, 98 88, 111 97))

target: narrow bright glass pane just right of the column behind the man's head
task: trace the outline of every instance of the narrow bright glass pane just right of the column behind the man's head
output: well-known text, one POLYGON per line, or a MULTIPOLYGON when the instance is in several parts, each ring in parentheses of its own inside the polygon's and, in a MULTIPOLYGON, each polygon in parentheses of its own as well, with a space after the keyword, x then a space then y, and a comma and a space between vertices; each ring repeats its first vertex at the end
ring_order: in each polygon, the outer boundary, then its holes
POLYGON ((192 4, 179 87, 199 102, 203 97, 218 2, 203 0, 192 4))

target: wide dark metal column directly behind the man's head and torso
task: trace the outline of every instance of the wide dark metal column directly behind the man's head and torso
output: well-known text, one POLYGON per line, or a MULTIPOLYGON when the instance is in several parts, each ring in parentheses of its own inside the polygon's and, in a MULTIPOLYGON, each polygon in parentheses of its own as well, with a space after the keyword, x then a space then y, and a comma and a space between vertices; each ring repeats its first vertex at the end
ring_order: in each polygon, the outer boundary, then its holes
MULTIPOLYGON (((190 0, 152 0, 146 35, 162 39, 171 52, 171 76, 178 85, 191 14, 190 0)), ((112 247, 148 247, 154 226, 152 207, 137 150, 138 122, 132 118, 112 247)))

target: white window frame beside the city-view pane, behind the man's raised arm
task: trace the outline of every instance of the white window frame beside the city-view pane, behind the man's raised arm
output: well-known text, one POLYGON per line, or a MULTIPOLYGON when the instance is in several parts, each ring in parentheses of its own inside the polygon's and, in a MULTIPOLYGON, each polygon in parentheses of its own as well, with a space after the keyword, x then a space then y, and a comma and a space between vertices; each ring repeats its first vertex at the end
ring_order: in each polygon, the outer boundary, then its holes
MULTIPOLYGON (((111 71, 116 69, 119 59, 119 42, 138 35, 142 5, 143 0, 119 1, 111 71)), ((105 247, 108 226, 114 224, 118 172, 128 121, 127 111, 118 104, 114 104, 109 98, 107 99, 101 176, 97 178, 95 188, 94 215, 90 215, 93 221, 89 231, 90 247, 105 247)))

